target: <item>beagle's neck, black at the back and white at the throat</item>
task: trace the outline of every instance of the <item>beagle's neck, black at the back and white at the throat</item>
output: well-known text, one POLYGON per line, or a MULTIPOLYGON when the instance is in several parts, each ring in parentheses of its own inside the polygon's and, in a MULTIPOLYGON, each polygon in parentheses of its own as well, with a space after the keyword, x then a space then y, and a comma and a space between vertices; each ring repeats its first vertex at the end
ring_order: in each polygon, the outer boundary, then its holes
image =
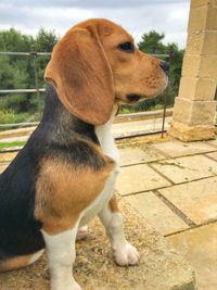
POLYGON ((112 124, 118 106, 114 105, 106 124, 93 126, 69 113, 61 103, 55 89, 49 85, 43 116, 38 129, 46 131, 48 142, 56 142, 60 146, 71 144, 76 136, 88 138, 100 144, 106 155, 118 162, 118 152, 112 136, 112 124))

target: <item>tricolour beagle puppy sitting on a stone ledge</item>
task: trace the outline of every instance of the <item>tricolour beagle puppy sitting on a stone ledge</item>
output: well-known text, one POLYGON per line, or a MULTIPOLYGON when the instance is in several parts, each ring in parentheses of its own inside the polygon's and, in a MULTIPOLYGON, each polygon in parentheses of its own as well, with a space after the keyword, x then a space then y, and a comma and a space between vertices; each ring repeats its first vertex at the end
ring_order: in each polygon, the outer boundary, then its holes
POLYGON ((99 215, 120 266, 139 254, 125 238, 114 197, 118 105, 156 97, 168 64, 139 51, 107 20, 75 25, 46 68, 42 119, 0 176, 0 270, 35 262, 46 249, 52 290, 80 290, 72 268, 79 227, 99 215))

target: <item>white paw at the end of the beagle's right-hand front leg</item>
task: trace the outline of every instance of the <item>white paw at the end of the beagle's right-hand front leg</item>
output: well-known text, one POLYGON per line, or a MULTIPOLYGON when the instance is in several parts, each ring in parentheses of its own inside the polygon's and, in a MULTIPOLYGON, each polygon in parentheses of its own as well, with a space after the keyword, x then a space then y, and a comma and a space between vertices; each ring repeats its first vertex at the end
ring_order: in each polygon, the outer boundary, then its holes
POLYGON ((139 264, 139 253, 129 242, 113 247, 115 261, 119 266, 129 266, 139 264))

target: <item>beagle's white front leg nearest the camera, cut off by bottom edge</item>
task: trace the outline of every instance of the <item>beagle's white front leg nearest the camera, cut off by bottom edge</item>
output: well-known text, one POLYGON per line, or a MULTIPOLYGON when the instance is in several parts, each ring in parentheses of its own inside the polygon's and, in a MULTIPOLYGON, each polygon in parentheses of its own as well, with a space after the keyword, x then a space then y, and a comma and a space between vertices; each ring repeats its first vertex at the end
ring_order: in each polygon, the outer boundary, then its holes
POLYGON ((42 230, 49 260, 51 290, 81 290, 72 270, 75 262, 75 239, 78 227, 49 235, 42 230))

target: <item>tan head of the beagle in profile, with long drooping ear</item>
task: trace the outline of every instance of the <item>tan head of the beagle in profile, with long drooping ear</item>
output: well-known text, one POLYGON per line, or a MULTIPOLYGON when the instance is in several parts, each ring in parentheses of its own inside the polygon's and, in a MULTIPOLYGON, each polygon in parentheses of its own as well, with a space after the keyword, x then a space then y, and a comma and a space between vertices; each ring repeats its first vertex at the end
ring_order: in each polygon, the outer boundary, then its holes
POLYGON ((89 20, 56 43, 44 78, 69 112, 102 125, 115 102, 135 103, 161 93, 167 86, 165 71, 162 61, 137 49, 120 26, 89 20))

